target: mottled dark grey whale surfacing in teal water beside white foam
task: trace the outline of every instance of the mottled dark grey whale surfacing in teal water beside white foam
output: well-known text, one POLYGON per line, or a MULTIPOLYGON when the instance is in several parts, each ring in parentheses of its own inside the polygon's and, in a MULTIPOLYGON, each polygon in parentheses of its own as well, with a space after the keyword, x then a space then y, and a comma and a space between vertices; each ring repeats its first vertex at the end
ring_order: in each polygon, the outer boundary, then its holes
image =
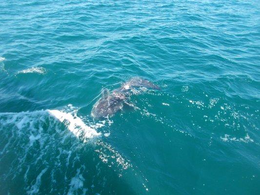
POLYGON ((158 85, 142 79, 131 78, 129 81, 122 84, 118 89, 110 92, 104 89, 102 97, 94 104, 91 115, 94 118, 109 117, 123 108, 124 101, 131 95, 131 88, 146 87, 150 89, 160 89, 158 85))

